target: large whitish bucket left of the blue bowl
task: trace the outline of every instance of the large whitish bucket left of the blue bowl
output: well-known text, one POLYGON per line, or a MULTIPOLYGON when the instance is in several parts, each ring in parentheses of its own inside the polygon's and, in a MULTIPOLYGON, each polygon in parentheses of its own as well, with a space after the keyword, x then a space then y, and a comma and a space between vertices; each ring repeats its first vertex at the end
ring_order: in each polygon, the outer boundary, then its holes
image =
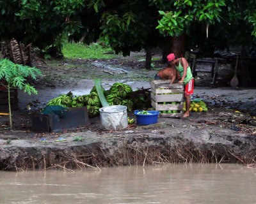
POLYGON ((116 130, 128 127, 126 106, 106 106, 100 108, 100 122, 103 129, 116 130))

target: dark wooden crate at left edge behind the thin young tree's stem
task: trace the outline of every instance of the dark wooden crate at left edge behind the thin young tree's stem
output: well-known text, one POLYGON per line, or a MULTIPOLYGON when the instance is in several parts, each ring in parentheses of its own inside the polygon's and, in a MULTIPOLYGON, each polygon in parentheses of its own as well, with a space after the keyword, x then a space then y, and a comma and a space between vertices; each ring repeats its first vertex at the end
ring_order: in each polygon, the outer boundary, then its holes
MULTIPOLYGON (((19 108, 18 92, 17 89, 10 90, 11 108, 17 110, 19 108)), ((8 112, 8 91, 0 91, 0 112, 8 112)))

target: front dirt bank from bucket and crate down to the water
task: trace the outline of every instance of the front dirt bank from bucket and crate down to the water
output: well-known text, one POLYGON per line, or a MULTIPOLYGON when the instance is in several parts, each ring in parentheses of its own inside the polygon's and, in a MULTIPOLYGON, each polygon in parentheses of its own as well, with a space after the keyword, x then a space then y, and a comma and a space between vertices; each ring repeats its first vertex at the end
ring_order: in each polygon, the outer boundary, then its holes
POLYGON ((189 119, 160 118, 157 124, 122 131, 101 131, 95 119, 90 126, 67 133, 39 134, 34 138, 28 133, 23 139, 19 132, 1 134, 0 169, 67 170, 173 162, 255 163, 255 126, 246 124, 246 117, 240 113, 221 110, 192 113, 189 119), (238 126, 237 121, 243 122, 243 126, 238 126), (60 136, 67 141, 54 142, 60 136), (38 142, 42 137, 47 142, 38 142), (74 141, 78 137, 83 140, 74 141), (7 144, 6 138, 12 138, 12 142, 7 144))

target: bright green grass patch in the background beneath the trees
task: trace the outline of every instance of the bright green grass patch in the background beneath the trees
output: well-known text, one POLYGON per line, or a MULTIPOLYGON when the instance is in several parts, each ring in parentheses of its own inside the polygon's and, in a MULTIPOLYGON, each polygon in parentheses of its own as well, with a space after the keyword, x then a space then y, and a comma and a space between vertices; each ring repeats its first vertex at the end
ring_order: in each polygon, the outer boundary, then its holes
POLYGON ((64 57, 71 59, 112 59, 120 55, 102 45, 100 43, 92 43, 91 45, 84 45, 83 43, 63 43, 62 53, 64 57))

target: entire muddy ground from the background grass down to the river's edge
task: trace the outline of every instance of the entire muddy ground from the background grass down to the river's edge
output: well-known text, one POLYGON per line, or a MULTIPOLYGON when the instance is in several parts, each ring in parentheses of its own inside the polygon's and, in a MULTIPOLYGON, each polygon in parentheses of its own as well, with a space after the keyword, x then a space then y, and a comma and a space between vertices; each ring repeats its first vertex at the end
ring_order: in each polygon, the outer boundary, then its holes
MULTIPOLYGON (((218 83, 211 76, 196 77, 195 97, 208 112, 192 112, 188 118, 159 118, 157 124, 132 124, 127 129, 104 131, 100 118, 90 118, 84 127, 60 133, 33 133, 31 113, 44 108, 49 99, 67 94, 88 94, 93 78, 101 78, 105 89, 115 82, 147 89, 155 69, 143 69, 145 53, 111 60, 62 59, 35 61, 43 76, 35 85, 38 95, 19 91, 19 110, 13 111, 13 131, 7 116, 0 116, 0 169, 35 170, 95 168, 157 163, 256 163, 256 89, 223 87, 233 71, 221 64, 218 83), (229 73, 227 74, 227 71, 229 73), (208 78, 208 80, 207 80, 208 78), (63 137, 66 140, 55 142, 63 137), (44 138, 45 142, 39 142, 44 138)), ((156 56, 157 58, 157 56, 156 56)), ((204 64, 200 65, 204 66, 204 64)), ((205 65, 205 69, 207 65, 205 65)), ((128 112, 134 117, 133 112, 128 112)))

